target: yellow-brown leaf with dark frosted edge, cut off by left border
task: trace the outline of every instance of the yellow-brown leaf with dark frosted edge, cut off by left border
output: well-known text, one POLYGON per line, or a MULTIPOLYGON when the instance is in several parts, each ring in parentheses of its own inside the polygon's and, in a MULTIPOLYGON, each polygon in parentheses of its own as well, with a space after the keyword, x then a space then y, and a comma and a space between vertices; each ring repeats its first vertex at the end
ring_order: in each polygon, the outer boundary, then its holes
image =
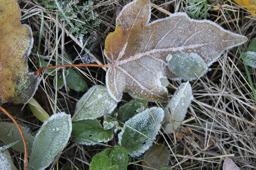
POLYGON ((28 72, 32 48, 31 28, 20 24, 16 0, 0 0, 0 104, 26 103, 38 87, 38 78, 28 72))

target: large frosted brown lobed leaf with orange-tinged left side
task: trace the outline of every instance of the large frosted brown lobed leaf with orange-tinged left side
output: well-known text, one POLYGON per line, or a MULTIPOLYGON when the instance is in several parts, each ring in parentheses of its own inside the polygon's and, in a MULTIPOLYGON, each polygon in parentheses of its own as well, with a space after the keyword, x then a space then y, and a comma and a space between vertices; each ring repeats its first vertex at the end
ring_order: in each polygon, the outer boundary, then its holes
POLYGON ((196 54, 209 66, 224 50, 247 41, 216 23, 192 20, 185 13, 149 23, 150 14, 149 0, 132 1, 119 13, 116 30, 106 38, 105 56, 112 65, 106 85, 116 101, 123 92, 149 101, 167 101, 167 89, 160 78, 180 75, 169 70, 166 57, 196 54))

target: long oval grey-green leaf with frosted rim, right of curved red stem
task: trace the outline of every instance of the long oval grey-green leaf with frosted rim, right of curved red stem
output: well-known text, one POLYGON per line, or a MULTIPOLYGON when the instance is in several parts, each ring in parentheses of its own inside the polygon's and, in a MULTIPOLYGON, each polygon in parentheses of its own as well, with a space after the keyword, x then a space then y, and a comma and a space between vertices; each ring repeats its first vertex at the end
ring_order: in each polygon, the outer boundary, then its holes
POLYGON ((70 115, 53 114, 35 136, 28 170, 44 170, 66 146, 72 131, 70 115))

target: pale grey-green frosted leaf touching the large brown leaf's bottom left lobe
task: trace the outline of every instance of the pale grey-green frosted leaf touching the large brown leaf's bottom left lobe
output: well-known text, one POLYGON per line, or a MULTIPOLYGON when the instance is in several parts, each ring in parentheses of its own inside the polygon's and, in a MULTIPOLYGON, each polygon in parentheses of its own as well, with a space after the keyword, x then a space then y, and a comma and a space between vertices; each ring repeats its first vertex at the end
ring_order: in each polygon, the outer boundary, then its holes
POLYGON ((96 119, 111 113, 117 102, 108 94, 102 85, 91 87, 76 104, 76 111, 72 118, 74 122, 84 119, 96 119))

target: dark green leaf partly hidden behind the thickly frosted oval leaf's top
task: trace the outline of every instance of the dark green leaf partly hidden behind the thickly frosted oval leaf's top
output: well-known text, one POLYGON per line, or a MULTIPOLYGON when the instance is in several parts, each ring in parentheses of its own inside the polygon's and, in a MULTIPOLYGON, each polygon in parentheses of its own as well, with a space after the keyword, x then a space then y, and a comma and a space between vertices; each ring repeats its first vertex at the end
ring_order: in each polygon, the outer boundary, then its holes
POLYGON ((119 108, 121 122, 125 122, 130 119, 134 114, 138 112, 142 112, 145 110, 147 106, 147 101, 143 99, 131 100, 131 102, 125 103, 119 108))

